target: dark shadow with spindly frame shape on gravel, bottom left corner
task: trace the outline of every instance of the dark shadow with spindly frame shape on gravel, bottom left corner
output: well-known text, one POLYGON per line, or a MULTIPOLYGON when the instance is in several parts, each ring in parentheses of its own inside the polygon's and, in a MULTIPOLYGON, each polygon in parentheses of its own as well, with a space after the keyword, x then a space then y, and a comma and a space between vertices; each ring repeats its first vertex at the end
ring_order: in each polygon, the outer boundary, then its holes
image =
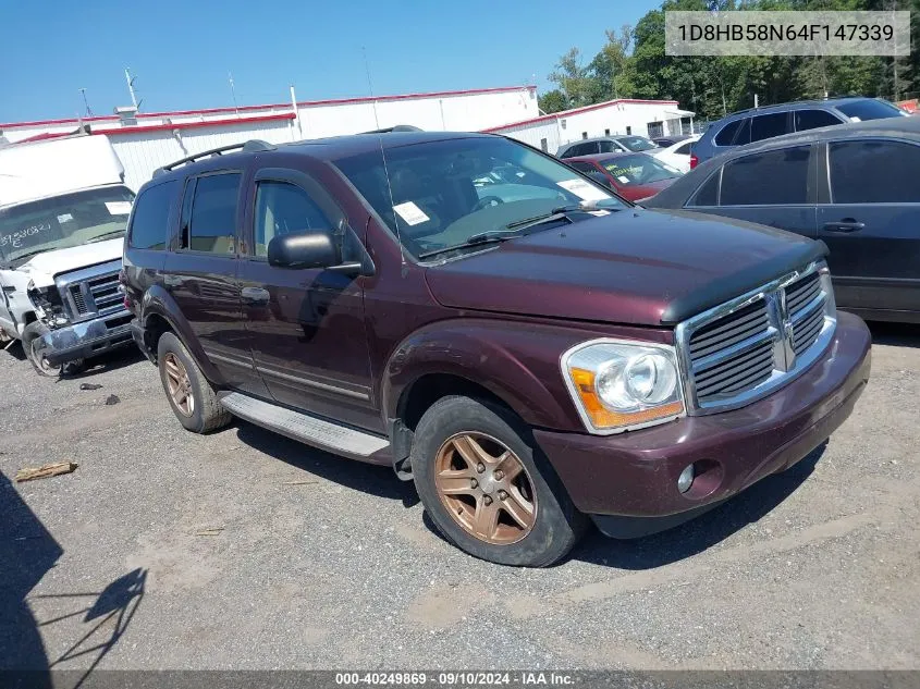
POLYGON ((144 598, 147 570, 134 569, 102 591, 29 595, 64 551, 2 472, 0 514, 0 686, 58 686, 52 668, 90 656, 88 666, 73 670, 68 678, 69 687, 79 687, 127 629, 144 598), (54 612, 36 619, 36 605, 39 610, 50 605, 54 612), (49 660, 39 629, 77 616, 91 627, 49 660))

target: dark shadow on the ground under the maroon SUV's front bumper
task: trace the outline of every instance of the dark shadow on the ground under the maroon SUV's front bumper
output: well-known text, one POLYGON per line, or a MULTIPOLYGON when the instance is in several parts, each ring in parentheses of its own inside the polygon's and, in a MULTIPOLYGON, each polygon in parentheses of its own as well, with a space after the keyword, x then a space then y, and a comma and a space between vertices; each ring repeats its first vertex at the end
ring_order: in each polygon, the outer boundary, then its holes
POLYGON ((686 559, 759 521, 792 495, 814 471, 827 441, 798 464, 769 476, 712 512, 645 538, 617 541, 594 530, 573 551, 571 558, 621 569, 652 569, 686 559))

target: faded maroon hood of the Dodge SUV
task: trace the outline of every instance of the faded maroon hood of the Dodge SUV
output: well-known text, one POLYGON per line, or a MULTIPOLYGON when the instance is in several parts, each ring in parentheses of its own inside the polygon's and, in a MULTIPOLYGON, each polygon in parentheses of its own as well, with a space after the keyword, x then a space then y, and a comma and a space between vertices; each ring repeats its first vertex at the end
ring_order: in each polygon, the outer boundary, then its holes
POLYGON ((426 279, 454 308, 662 325, 826 253, 821 242, 753 223, 633 208, 432 266, 426 279))

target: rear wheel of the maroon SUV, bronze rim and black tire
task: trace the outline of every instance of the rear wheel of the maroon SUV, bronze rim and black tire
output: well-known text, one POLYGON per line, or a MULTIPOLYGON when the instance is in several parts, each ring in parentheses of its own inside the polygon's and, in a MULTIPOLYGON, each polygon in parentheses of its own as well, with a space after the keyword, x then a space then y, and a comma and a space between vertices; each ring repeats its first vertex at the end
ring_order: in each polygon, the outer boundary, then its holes
POLYGON ((213 386, 173 333, 160 336, 157 361, 167 399, 182 426, 207 433, 230 423, 233 417, 220 405, 213 386))

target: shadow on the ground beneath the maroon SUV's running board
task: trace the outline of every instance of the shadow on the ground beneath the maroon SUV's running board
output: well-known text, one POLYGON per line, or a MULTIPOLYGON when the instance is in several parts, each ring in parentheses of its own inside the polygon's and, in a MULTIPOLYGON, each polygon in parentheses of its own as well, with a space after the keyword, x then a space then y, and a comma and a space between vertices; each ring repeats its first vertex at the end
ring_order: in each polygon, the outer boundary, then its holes
POLYGON ((235 423, 241 442, 302 471, 369 495, 398 500, 406 507, 418 504, 415 485, 398 480, 391 467, 338 457, 242 419, 235 423))

